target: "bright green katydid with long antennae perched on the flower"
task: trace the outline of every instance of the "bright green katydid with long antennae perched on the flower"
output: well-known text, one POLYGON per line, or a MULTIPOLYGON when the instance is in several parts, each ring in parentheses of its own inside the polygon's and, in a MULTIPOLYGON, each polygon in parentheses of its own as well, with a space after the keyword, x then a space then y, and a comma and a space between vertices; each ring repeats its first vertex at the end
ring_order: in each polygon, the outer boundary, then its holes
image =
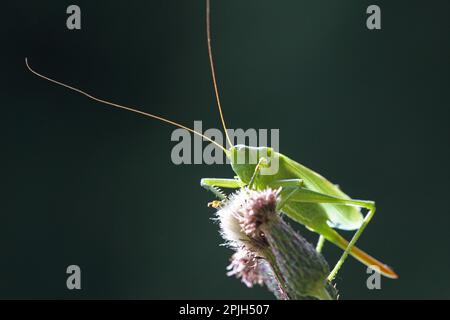
POLYGON ((266 188, 281 188, 281 201, 278 209, 292 220, 305 225, 309 230, 312 230, 320 235, 317 246, 319 251, 325 239, 344 250, 342 257, 331 271, 328 277, 329 280, 332 280, 336 276, 338 270, 349 254, 365 265, 373 267, 381 274, 389 278, 397 278, 397 274, 390 267, 369 256, 367 253, 355 246, 356 241, 375 213, 374 202, 351 199, 343 193, 339 187, 332 184, 318 173, 308 169, 287 156, 276 152, 272 148, 233 145, 227 133, 214 70, 210 32, 210 0, 206 0, 206 29, 209 62, 217 106, 222 126, 225 131, 227 141, 230 145, 229 149, 224 148, 211 138, 206 137, 182 124, 158 115, 140 111, 136 108, 99 99, 83 90, 38 73, 30 67, 27 59, 25 59, 25 63, 28 70, 40 78, 76 91, 99 103, 138 113, 140 115, 188 130, 189 132, 199 135, 203 139, 216 145, 218 148, 223 150, 227 158, 230 160, 231 167, 236 176, 232 179, 204 178, 201 180, 201 185, 215 193, 220 198, 223 198, 224 196, 218 188, 236 189, 249 187, 258 190, 266 188), (252 156, 256 157, 256 161, 250 161, 252 156), (261 174, 261 171, 270 165, 271 159, 275 158, 278 161, 277 172, 270 175, 261 174), (242 159, 248 159, 249 161, 242 161, 242 159), (360 208, 365 208, 368 210, 365 217, 363 217, 360 208), (340 236, 334 228, 356 230, 356 232, 351 241, 348 242, 340 236))

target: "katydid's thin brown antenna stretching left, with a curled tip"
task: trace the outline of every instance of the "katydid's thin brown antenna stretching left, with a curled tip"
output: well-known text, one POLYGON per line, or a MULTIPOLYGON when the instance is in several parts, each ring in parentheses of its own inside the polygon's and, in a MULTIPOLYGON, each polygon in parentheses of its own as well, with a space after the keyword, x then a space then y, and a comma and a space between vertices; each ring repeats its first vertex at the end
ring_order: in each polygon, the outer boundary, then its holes
POLYGON ((173 126, 175 126, 175 127, 178 127, 178 128, 181 128, 181 129, 185 129, 185 130, 187 130, 187 131, 189 131, 189 132, 192 132, 192 133, 194 133, 194 134, 196 134, 196 135, 202 137, 203 139, 208 140, 209 142, 215 144, 217 147, 219 147, 220 149, 222 149, 222 150, 225 152, 225 154, 228 153, 228 150, 226 150, 223 146, 221 146, 220 144, 218 144, 216 141, 214 141, 214 140, 212 140, 211 138, 208 138, 207 136, 204 136, 204 135, 201 134, 200 132, 197 132, 197 131, 195 131, 195 130, 193 130, 193 129, 191 129, 191 128, 188 128, 188 127, 186 127, 186 126, 184 126, 184 125, 182 125, 182 124, 179 124, 179 123, 177 123, 177 122, 175 122, 175 121, 168 120, 168 119, 165 119, 165 118, 163 118, 163 117, 160 117, 160 116, 157 116, 157 115, 154 115, 154 114, 151 114, 151 113, 147 113, 147 112, 144 112, 144 111, 135 109, 135 108, 131 108, 131 107, 123 106, 123 105, 120 105, 120 104, 117 104, 117 103, 113 103, 113 102, 110 102, 110 101, 106 101, 106 100, 103 100, 103 99, 99 99, 99 98, 94 97, 94 96, 92 96, 91 94, 89 94, 89 93, 87 93, 87 92, 85 92, 85 91, 83 91, 83 90, 77 89, 77 88, 75 88, 75 87, 69 86, 68 84, 65 84, 65 83, 59 82, 59 81, 57 81, 57 80, 54 80, 54 79, 52 79, 52 78, 49 78, 49 77, 47 77, 47 76, 44 76, 43 74, 40 74, 39 72, 35 71, 33 68, 30 67, 30 65, 28 64, 28 59, 27 59, 27 58, 25 58, 25 64, 26 64, 26 66, 27 66, 27 68, 28 68, 28 70, 29 70, 30 72, 34 73, 36 76, 38 76, 38 77, 40 77, 40 78, 42 78, 42 79, 45 79, 45 80, 50 81, 50 82, 53 82, 53 83, 55 83, 55 84, 57 84, 57 85, 60 85, 60 86, 62 86, 62 87, 65 87, 65 88, 67 88, 67 89, 70 89, 70 90, 72 90, 72 91, 81 93, 82 95, 88 97, 89 99, 92 99, 92 100, 97 101, 97 102, 99 102, 99 103, 106 104, 106 105, 109 105, 109 106, 112 106, 112 107, 115 107, 115 108, 119 108, 119 109, 131 111, 131 112, 134 112, 134 113, 143 115, 143 116, 145 116, 145 117, 153 118, 153 119, 156 119, 156 120, 159 120, 159 121, 162 121, 162 122, 171 124, 171 125, 173 125, 173 126))

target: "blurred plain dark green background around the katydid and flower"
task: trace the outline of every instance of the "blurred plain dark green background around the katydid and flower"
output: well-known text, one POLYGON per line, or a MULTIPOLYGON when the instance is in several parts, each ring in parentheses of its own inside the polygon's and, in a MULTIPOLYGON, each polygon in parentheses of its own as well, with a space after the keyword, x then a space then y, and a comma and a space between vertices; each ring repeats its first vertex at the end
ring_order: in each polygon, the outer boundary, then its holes
MULTIPOLYGON (((0 297, 272 298, 225 275, 231 251, 199 180, 231 177, 229 167, 175 166, 173 128, 24 65, 28 56, 100 97, 219 127, 204 1, 75 1, 82 30, 69 31, 72 3, 2 5, 0 297), (65 287, 70 264, 82 268, 81 291, 65 287)), ((369 291, 349 259, 342 298, 450 298, 449 2, 212 6, 229 126, 280 128, 283 153, 377 202, 359 245, 400 279, 369 291), (365 26, 370 4, 381 31, 365 26)), ((330 264, 339 253, 325 248, 330 264)))

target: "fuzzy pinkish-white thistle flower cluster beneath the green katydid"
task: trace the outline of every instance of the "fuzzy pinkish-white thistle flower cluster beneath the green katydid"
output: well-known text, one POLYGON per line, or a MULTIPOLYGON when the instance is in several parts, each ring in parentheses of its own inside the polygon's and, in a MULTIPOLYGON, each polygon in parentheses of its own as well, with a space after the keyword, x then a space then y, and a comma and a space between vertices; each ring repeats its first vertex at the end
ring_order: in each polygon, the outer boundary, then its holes
POLYGON ((328 264, 276 211, 280 190, 243 188, 217 212, 226 244, 236 250, 228 269, 248 287, 265 283, 279 299, 334 299, 328 264))

